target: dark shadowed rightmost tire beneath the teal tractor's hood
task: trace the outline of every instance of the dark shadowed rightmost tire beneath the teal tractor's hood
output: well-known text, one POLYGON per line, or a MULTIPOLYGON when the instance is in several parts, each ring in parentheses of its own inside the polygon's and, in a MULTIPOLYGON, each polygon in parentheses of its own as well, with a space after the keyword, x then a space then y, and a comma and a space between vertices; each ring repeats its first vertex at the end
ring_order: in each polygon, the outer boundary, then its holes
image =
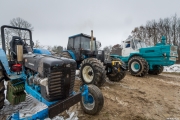
POLYGON ((153 70, 149 70, 148 73, 152 75, 159 75, 163 72, 164 67, 161 65, 155 65, 153 66, 153 70))

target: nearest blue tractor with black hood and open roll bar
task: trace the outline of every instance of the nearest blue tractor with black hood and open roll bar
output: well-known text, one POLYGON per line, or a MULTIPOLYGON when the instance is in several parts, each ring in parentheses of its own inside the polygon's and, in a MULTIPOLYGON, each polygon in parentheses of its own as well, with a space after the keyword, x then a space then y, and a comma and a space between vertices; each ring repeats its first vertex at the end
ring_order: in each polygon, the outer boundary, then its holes
POLYGON ((26 100, 26 94, 47 106, 31 116, 28 114, 20 116, 17 111, 8 119, 53 118, 78 102, 81 103, 84 112, 91 115, 97 114, 102 109, 104 98, 100 89, 95 85, 82 85, 80 92, 73 90, 76 61, 42 54, 47 53, 46 50, 39 49, 33 53, 33 41, 29 29, 4 25, 1 27, 1 36, 0 111, 3 110, 5 98, 10 104, 18 105, 26 100), (7 43, 5 29, 26 31, 29 33, 29 39, 12 36, 10 43, 7 43), (7 47, 8 44, 9 47, 7 47), (5 81, 7 86, 4 84, 5 81))

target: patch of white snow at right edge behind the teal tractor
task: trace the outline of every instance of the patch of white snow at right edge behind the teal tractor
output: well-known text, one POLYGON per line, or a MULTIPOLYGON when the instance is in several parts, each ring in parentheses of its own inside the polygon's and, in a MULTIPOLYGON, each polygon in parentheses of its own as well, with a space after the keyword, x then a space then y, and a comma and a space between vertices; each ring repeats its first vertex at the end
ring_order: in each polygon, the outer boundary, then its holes
POLYGON ((180 64, 174 64, 171 66, 164 66, 163 72, 180 72, 180 64))

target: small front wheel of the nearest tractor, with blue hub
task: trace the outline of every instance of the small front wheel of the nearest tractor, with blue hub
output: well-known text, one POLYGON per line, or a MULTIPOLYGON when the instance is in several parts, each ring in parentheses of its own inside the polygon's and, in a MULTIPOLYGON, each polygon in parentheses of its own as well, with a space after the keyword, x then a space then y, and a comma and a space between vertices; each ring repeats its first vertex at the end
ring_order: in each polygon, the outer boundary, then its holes
POLYGON ((85 98, 82 97, 81 107, 87 114, 98 114, 104 105, 104 97, 101 90, 95 85, 88 85, 88 92, 88 102, 85 102, 85 98))

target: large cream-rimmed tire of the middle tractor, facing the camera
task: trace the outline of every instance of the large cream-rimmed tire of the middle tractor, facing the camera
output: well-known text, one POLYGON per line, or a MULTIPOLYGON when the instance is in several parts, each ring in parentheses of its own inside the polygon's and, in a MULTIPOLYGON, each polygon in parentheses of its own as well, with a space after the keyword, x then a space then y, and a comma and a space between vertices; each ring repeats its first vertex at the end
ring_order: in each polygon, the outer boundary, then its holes
POLYGON ((87 58, 80 64, 79 76, 83 83, 101 87, 105 83, 106 71, 103 63, 96 58, 87 58))

